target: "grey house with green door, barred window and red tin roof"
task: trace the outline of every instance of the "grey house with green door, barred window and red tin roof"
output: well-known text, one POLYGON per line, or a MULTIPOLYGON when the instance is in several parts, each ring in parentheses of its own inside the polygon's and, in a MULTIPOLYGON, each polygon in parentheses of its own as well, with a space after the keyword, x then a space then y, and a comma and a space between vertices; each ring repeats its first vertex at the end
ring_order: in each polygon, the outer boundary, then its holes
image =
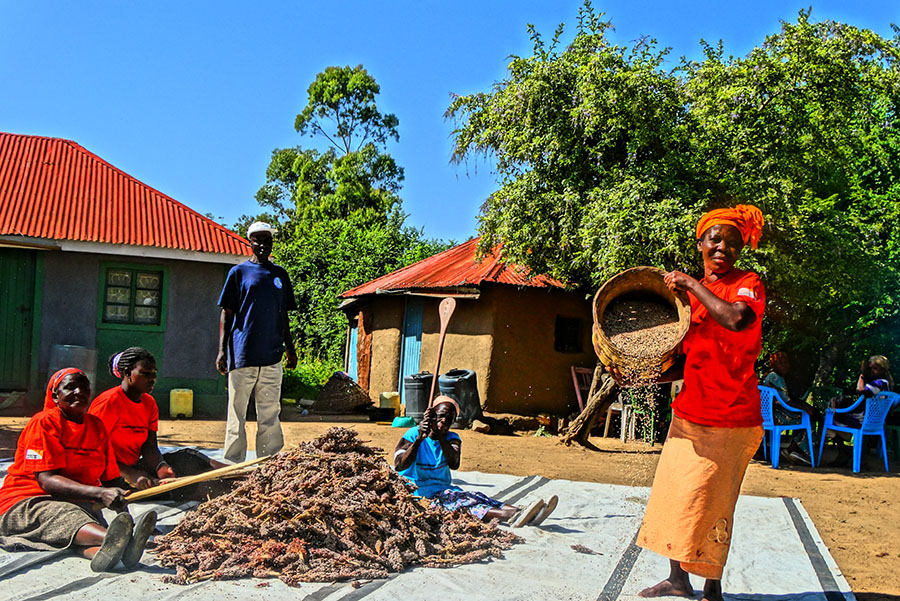
POLYGON ((49 373, 81 367, 95 392, 107 358, 143 346, 155 396, 190 388, 224 407, 215 369, 218 294, 246 240, 60 138, 0 133, 0 395, 40 406, 49 373))

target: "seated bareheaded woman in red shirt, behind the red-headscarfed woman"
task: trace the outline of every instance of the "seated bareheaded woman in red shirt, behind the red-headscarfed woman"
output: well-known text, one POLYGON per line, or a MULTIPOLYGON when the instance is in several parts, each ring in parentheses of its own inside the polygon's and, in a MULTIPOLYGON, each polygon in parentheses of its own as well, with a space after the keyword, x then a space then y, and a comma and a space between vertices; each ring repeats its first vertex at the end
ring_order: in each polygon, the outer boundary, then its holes
MULTIPOLYGON (((132 346, 116 353, 109 358, 109 371, 122 383, 97 396, 89 413, 106 426, 119 471, 130 486, 144 490, 160 480, 225 466, 195 449, 160 453, 156 437, 159 408, 150 395, 156 385, 156 359, 150 351, 132 346)), ((169 494, 176 500, 205 500, 228 488, 221 482, 204 482, 169 494)))

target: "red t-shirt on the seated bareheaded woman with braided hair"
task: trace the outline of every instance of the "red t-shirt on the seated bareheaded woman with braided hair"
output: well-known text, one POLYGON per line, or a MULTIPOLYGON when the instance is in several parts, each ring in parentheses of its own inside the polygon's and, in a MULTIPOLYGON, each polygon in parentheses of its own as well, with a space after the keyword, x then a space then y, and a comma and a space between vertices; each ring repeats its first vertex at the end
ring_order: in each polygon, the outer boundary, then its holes
POLYGON ((156 400, 149 394, 142 394, 141 401, 135 403, 121 386, 110 388, 94 399, 88 413, 103 420, 116 460, 123 465, 137 465, 148 432, 156 432, 159 428, 156 400))

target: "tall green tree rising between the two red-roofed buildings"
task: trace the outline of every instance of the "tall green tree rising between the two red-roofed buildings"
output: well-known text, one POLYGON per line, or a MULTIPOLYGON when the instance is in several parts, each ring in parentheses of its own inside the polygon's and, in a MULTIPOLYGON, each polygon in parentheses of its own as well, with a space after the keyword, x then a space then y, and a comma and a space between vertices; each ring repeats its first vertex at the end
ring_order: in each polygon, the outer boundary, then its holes
POLYGON ((301 356, 340 365, 347 318, 339 295, 446 248, 404 225, 403 169, 385 152, 399 121, 376 106, 380 88, 362 66, 328 67, 308 89, 294 126, 321 147, 276 149, 256 194, 261 216, 279 224, 273 259, 290 274, 301 356))

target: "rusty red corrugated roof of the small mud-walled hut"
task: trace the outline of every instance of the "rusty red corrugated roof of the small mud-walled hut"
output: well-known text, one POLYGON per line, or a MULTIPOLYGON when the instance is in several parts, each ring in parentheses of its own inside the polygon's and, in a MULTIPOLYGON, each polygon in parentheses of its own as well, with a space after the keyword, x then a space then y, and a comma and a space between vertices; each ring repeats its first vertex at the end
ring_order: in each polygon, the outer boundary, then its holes
POLYGON ((433 257, 366 282, 362 286, 344 292, 341 297, 375 294, 379 290, 477 287, 483 282, 534 288, 565 288, 565 284, 559 280, 545 275, 529 277, 525 267, 501 262, 499 246, 481 261, 476 261, 478 240, 473 238, 433 257))

